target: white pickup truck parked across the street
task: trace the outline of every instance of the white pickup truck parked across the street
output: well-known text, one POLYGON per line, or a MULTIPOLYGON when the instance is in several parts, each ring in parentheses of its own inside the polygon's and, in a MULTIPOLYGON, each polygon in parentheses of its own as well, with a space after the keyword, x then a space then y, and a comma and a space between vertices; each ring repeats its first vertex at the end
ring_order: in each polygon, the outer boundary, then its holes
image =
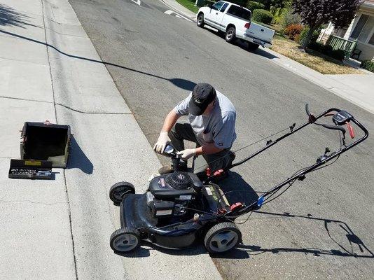
POLYGON ((240 38, 248 42, 249 50, 256 50, 258 45, 272 45, 275 31, 251 22, 251 11, 234 3, 219 1, 214 5, 202 7, 196 18, 198 27, 209 25, 225 32, 226 41, 229 43, 240 38))

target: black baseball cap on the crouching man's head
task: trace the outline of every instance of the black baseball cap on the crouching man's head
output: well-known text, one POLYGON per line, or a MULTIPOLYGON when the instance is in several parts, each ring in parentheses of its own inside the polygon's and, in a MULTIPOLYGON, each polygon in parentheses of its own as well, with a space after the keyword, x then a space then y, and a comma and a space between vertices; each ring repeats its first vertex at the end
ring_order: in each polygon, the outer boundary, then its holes
POLYGON ((194 116, 200 116, 210 102, 216 99, 216 90, 209 83, 198 83, 193 87, 192 97, 188 104, 188 113, 194 116))

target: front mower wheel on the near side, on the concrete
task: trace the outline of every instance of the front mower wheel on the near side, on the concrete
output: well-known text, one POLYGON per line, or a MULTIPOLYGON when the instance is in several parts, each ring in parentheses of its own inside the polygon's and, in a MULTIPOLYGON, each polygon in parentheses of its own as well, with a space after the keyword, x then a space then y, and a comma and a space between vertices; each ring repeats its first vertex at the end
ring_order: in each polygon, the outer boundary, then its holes
POLYGON ((120 228, 111 234, 111 248, 116 253, 127 253, 134 251, 140 246, 140 235, 138 230, 120 228))

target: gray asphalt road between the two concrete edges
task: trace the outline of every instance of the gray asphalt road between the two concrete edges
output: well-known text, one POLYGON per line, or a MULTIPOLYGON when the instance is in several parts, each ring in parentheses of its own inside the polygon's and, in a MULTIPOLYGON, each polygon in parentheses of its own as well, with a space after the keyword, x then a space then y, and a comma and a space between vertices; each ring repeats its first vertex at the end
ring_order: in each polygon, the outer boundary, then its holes
MULTIPOLYGON (((160 1, 70 2, 102 60, 111 63, 106 67, 150 144, 167 112, 199 82, 212 83, 235 105, 234 150, 305 122, 305 103, 316 113, 346 109, 373 132, 372 114, 272 63, 263 50, 248 52, 214 31, 165 14, 169 8, 160 1)), ((373 143, 369 137, 335 165, 308 174, 240 225, 244 244, 214 258, 223 278, 372 278, 373 143)), ((315 162, 326 146, 339 146, 336 132, 308 128, 233 169, 223 188, 267 190, 315 162)))

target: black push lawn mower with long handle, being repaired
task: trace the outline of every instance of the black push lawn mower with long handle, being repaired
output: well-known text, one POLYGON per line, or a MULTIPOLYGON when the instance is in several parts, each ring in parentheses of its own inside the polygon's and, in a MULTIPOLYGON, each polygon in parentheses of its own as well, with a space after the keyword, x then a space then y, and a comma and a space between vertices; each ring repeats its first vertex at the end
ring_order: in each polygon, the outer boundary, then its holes
POLYGON ((134 251, 140 246, 141 240, 163 248, 184 248, 191 246, 198 239, 203 241, 207 251, 212 254, 226 253, 235 248, 242 241, 242 234, 235 223, 236 218, 244 214, 250 215, 252 211, 260 209, 263 204, 282 195, 296 180, 303 181, 305 174, 327 166, 326 163, 333 159, 338 160, 342 153, 368 137, 366 128, 347 111, 332 108, 314 116, 308 105, 305 109, 307 123, 299 127, 296 127, 296 124, 287 127, 287 132, 275 140, 268 140, 259 151, 233 163, 226 170, 218 170, 213 174, 207 172, 205 176, 198 176, 193 172, 179 171, 180 159, 176 150, 172 144, 167 145, 163 155, 172 159, 174 172, 151 179, 146 193, 135 194, 134 186, 127 182, 116 183, 111 187, 109 197, 113 204, 120 206, 121 225, 110 237, 113 251, 119 254, 134 251), (332 117, 331 124, 317 122, 329 116, 332 117), (354 139, 352 124, 363 131, 363 137, 347 144, 346 129, 343 126, 347 126, 350 137, 354 139), (324 154, 317 158, 317 162, 298 170, 282 183, 257 196, 256 200, 248 205, 244 202, 230 204, 226 197, 229 192, 223 193, 221 188, 213 183, 222 172, 242 165, 307 125, 337 130, 340 148, 333 152, 326 148, 324 154), (278 193, 279 190, 282 192, 278 193))

